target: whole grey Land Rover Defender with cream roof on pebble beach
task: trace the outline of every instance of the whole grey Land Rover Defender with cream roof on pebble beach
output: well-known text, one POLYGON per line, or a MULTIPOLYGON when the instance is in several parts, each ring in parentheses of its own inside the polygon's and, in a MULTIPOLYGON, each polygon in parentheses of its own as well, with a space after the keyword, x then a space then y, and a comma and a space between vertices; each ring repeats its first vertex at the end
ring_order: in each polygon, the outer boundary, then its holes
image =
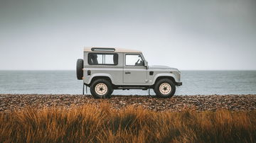
POLYGON ((114 89, 154 89, 159 98, 174 96, 181 86, 181 71, 148 66, 141 51, 108 47, 85 47, 77 61, 77 77, 90 87, 94 98, 110 98, 114 89))

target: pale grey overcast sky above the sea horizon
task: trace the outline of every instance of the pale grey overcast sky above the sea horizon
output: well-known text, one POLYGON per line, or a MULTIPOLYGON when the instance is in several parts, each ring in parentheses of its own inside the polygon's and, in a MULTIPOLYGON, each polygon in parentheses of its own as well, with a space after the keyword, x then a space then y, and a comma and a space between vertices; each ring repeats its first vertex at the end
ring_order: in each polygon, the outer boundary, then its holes
POLYGON ((84 46, 178 69, 256 69, 255 0, 0 1, 0 69, 75 70, 84 46))

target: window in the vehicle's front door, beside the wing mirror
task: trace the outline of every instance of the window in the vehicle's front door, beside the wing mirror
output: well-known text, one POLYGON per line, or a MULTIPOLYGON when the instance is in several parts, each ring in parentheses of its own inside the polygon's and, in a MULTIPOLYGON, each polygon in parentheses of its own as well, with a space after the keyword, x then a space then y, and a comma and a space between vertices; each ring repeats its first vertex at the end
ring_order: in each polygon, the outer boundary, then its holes
POLYGON ((141 55, 125 55, 125 65, 127 66, 143 66, 141 55))

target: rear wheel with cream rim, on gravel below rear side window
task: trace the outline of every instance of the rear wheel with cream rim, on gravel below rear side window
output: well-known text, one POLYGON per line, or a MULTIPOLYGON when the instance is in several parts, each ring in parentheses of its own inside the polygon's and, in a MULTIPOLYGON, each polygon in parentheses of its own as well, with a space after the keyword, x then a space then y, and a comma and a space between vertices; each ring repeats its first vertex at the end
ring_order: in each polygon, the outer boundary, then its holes
POLYGON ((106 79, 96 79, 90 86, 90 92, 94 98, 110 98, 113 92, 112 84, 106 79))

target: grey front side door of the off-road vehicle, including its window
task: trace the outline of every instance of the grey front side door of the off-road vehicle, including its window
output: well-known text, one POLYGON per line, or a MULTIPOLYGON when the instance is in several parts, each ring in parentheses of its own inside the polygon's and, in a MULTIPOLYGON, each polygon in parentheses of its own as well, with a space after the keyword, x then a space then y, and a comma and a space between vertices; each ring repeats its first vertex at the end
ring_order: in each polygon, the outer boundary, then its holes
POLYGON ((141 54, 126 54, 124 58, 124 83, 146 83, 146 67, 141 54))

